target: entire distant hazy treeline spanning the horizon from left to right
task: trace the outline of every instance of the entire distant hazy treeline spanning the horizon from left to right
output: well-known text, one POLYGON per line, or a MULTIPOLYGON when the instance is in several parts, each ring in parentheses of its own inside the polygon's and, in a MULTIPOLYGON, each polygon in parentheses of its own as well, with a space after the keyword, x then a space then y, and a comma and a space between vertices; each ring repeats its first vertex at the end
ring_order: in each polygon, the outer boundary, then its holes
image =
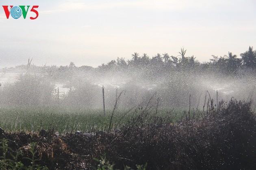
POLYGON ((73 62, 69 66, 35 66, 30 65, 31 60, 28 60, 27 65, 16 66, 15 68, 4 68, 2 72, 11 72, 15 70, 28 70, 29 72, 48 74, 53 79, 72 79, 74 72, 86 73, 102 73, 102 72, 126 72, 126 70, 137 72, 145 72, 147 75, 159 76, 170 72, 211 72, 222 73, 228 75, 236 75, 239 72, 251 72, 256 70, 256 50, 249 47, 247 51, 240 54, 240 57, 228 52, 224 56, 212 55, 208 62, 200 63, 193 55, 186 57, 186 50, 181 48, 178 56, 169 55, 168 53, 157 53, 149 57, 146 53, 132 54, 132 60, 125 60, 123 57, 118 57, 117 60, 112 60, 106 64, 93 68, 91 66, 77 67, 73 62))

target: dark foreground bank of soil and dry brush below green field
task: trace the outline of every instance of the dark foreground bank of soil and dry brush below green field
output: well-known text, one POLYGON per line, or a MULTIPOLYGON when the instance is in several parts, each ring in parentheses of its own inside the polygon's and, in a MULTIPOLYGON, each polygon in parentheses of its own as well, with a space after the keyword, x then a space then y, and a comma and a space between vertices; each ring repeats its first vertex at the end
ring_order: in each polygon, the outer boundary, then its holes
MULTIPOLYGON (((256 118, 251 102, 231 100, 220 108, 208 105, 200 117, 188 113, 184 119, 148 117, 146 112, 131 119, 120 130, 95 134, 67 133, 57 136, 54 130, 39 133, 6 133, 13 153, 37 142, 37 164, 49 169, 91 169, 93 157, 106 153, 115 168, 148 163, 148 169, 246 169, 256 167, 256 118), (191 118, 189 118, 191 117, 191 118)), ((2 151, 0 150, 0 156, 2 151)), ((28 166, 29 161, 20 158, 28 166)))

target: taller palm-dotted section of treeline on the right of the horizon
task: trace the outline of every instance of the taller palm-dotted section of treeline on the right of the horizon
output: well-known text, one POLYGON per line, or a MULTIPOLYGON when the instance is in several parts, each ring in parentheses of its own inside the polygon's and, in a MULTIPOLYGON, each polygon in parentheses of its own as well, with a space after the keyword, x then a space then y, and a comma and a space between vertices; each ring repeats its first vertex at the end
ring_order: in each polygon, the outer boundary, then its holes
POLYGON ((132 60, 125 61, 124 58, 117 58, 107 64, 102 64, 98 68, 101 70, 111 69, 125 69, 125 68, 148 68, 149 70, 155 69, 157 71, 165 72, 167 70, 177 71, 210 71, 223 74, 236 74, 239 70, 256 70, 256 50, 249 47, 248 51, 241 53, 239 58, 232 52, 223 57, 212 55, 209 62, 200 63, 193 55, 185 57, 186 50, 184 48, 179 52, 180 55, 173 56, 168 53, 157 53, 153 57, 149 57, 146 53, 139 55, 139 53, 132 54, 132 60))

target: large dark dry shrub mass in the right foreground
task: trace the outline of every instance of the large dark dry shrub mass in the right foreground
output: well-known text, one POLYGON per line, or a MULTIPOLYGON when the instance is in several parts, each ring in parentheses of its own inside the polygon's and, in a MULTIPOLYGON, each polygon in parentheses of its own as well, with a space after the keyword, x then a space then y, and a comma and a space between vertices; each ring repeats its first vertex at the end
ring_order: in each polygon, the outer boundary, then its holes
POLYGON ((100 152, 106 152, 117 168, 148 162, 151 169, 253 169, 256 119, 250 105, 222 102, 208 115, 174 125, 143 114, 130 120, 121 133, 98 140, 105 146, 100 152))

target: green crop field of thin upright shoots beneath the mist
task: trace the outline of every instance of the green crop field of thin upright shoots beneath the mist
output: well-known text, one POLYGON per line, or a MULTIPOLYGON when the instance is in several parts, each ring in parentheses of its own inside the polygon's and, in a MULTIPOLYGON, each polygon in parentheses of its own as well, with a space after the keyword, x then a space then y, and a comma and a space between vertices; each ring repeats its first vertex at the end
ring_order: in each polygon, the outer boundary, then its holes
MULTIPOLYGON (((54 129, 55 132, 91 132, 92 130, 103 130, 109 126, 113 110, 106 110, 103 115, 102 109, 84 107, 57 107, 57 106, 15 106, 0 107, 0 127, 7 132, 39 132, 42 129, 54 129)), ((114 112, 112 126, 114 129, 125 125, 131 117, 143 112, 141 109, 133 108, 117 109, 114 112)), ((156 114, 156 110, 149 112, 156 114)), ((169 117, 173 121, 184 115, 182 110, 158 109, 157 115, 169 117)))

